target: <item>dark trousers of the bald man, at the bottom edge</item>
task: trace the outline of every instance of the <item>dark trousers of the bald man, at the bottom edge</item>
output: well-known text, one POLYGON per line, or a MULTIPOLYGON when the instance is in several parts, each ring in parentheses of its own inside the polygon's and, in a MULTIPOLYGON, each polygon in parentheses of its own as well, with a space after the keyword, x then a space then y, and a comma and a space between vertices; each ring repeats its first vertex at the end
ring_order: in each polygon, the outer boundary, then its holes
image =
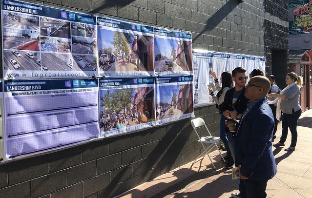
POLYGON ((239 182, 239 194, 242 198, 266 198, 267 182, 241 179, 239 182))

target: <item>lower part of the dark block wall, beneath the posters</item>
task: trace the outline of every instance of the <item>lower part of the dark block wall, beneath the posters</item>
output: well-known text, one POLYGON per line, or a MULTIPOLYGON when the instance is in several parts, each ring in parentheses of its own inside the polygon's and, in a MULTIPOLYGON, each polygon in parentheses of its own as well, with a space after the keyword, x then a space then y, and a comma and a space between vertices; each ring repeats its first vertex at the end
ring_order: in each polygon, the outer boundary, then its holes
MULTIPOLYGON (((195 115, 218 135, 215 105, 197 108, 195 115)), ((202 151, 190 119, 183 119, 2 164, 0 198, 109 198, 194 160, 202 151)))

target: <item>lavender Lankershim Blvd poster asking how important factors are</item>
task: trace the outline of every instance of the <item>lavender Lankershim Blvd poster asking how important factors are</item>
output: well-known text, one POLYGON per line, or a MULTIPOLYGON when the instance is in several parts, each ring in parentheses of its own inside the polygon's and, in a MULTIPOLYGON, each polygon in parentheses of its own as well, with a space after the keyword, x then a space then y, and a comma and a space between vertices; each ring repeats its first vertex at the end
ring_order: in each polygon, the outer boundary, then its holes
POLYGON ((99 135, 97 79, 4 81, 6 158, 99 135))

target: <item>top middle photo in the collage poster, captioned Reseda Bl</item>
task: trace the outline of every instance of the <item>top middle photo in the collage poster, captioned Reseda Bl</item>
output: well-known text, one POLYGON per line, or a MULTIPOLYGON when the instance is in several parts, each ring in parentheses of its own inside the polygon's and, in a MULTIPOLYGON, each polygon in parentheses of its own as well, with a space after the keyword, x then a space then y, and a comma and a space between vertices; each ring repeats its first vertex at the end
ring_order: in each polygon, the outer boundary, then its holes
POLYGON ((70 39, 70 22, 41 17, 40 35, 70 39))

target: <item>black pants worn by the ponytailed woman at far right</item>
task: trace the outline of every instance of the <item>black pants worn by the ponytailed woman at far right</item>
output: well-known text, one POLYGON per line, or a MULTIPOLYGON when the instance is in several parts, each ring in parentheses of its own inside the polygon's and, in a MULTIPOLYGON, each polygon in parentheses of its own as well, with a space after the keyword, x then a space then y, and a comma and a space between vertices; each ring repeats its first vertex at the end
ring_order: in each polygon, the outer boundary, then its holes
POLYGON ((283 115, 283 122, 282 122, 282 136, 279 142, 284 143, 287 138, 288 134, 288 127, 291 130, 291 147, 296 147, 297 144, 297 122, 299 117, 301 116, 301 109, 294 112, 292 109, 292 114, 285 114, 283 115))

